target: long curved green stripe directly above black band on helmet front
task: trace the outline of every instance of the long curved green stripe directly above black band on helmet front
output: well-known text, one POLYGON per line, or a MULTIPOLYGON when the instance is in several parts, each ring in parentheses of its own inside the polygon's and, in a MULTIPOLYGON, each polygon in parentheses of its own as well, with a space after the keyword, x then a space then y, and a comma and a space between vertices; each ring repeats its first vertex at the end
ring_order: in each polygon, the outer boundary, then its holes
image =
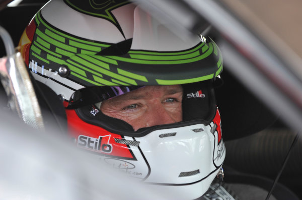
POLYGON ((127 62, 127 63, 136 63, 136 64, 149 64, 149 65, 172 65, 172 64, 184 64, 184 63, 193 63, 200 61, 206 57, 208 57, 213 52, 213 45, 209 43, 209 49, 204 54, 191 58, 186 60, 177 60, 177 61, 147 61, 147 60, 138 60, 138 59, 132 59, 132 58, 124 58, 119 56, 108 56, 109 58, 127 62))

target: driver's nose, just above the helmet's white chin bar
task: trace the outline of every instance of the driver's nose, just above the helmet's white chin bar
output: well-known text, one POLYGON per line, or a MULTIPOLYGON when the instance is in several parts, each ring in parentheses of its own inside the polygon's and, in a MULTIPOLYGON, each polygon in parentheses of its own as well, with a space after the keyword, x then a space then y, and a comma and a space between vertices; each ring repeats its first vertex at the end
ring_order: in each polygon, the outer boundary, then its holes
POLYGON ((181 121, 182 113, 172 113, 168 111, 163 105, 154 105, 148 110, 145 118, 146 126, 155 126, 163 124, 171 124, 181 121))

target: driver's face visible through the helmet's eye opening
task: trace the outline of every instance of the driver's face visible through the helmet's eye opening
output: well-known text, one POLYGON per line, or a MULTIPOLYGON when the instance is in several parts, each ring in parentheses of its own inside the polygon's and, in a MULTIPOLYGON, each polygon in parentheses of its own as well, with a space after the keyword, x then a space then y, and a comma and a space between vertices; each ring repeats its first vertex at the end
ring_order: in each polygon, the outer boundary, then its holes
POLYGON ((183 89, 180 85, 145 86, 106 100, 101 111, 139 128, 182 121, 183 89))

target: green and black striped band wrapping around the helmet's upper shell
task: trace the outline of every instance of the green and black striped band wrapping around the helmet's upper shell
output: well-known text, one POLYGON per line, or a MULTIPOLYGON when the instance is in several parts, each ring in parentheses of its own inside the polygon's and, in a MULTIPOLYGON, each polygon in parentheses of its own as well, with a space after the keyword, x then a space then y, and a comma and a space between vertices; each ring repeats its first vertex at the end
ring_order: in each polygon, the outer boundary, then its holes
POLYGON ((124 55, 102 55, 114 45, 62 32, 47 23, 39 12, 30 59, 52 71, 66 65, 66 78, 83 86, 174 85, 208 80, 222 70, 222 56, 216 44, 200 42, 184 51, 130 50, 124 55))

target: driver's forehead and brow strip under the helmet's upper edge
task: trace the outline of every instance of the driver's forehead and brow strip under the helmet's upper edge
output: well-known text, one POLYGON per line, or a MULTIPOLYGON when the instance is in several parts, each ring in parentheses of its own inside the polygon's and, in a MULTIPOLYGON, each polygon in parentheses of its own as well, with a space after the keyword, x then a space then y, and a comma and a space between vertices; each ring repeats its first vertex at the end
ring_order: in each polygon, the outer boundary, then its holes
POLYGON ((120 95, 118 97, 114 97, 110 100, 129 100, 129 99, 141 99, 141 98, 149 98, 149 97, 157 97, 157 96, 165 96, 172 95, 176 93, 182 93, 183 88, 181 85, 157 85, 157 86, 144 86, 142 88, 133 90, 126 94, 120 95))

